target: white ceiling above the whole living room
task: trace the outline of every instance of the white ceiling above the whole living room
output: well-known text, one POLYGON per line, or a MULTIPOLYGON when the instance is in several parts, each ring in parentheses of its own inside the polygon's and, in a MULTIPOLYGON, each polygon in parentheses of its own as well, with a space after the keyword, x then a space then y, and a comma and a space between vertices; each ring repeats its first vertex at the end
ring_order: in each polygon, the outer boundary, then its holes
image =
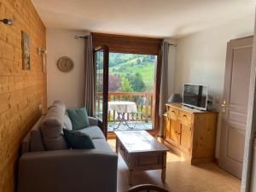
POLYGON ((49 28, 179 38, 254 15, 254 0, 32 0, 49 28))

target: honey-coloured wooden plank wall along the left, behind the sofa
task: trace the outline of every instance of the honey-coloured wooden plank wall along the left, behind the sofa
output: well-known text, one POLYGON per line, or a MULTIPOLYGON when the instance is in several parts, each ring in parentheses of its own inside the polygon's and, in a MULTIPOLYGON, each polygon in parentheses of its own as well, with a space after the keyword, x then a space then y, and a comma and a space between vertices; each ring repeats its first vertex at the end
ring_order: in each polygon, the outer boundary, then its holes
POLYGON ((15 26, 0 23, 0 191, 15 191, 15 167, 20 142, 46 110, 46 73, 42 72, 45 26, 29 0, 1 0, 0 19, 11 18, 15 26), (22 70, 21 31, 30 37, 31 70, 22 70))

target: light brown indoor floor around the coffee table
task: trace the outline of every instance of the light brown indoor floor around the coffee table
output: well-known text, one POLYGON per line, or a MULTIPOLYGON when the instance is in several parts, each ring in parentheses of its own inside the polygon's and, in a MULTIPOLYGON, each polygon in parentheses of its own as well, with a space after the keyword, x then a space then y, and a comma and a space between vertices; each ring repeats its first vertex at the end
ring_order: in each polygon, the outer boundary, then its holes
MULTIPOLYGON (((108 140, 115 148, 115 139, 108 140)), ((128 169, 119 155, 118 192, 129 189, 128 169)), ((136 172, 134 185, 152 183, 170 192, 240 192, 241 180, 224 172, 216 164, 191 166, 175 154, 167 154, 166 183, 161 183, 160 171, 136 172)))

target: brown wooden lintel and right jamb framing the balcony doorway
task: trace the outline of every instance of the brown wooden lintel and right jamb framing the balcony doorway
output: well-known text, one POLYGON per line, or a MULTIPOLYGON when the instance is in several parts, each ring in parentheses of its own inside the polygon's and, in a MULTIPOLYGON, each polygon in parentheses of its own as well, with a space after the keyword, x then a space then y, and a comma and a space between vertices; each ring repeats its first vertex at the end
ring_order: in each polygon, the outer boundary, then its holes
MULTIPOLYGON (((159 131, 160 116, 160 79, 161 79, 161 44, 163 38, 146 38, 137 36, 125 36, 115 34, 105 34, 92 32, 93 47, 105 44, 108 46, 109 52, 141 54, 141 55, 157 55, 157 66, 155 70, 155 91, 154 91, 154 129, 148 131, 152 135, 156 135, 159 131)), ((115 137, 113 132, 108 132, 108 137, 115 137)))

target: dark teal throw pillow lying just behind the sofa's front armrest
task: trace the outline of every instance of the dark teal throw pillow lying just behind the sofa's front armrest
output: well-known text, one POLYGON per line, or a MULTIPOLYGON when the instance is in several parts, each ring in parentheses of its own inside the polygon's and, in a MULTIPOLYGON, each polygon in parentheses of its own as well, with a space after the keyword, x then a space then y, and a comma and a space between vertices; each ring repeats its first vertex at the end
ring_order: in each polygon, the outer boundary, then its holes
POLYGON ((63 129, 63 133, 70 148, 95 148, 90 136, 86 135, 83 132, 63 129))

